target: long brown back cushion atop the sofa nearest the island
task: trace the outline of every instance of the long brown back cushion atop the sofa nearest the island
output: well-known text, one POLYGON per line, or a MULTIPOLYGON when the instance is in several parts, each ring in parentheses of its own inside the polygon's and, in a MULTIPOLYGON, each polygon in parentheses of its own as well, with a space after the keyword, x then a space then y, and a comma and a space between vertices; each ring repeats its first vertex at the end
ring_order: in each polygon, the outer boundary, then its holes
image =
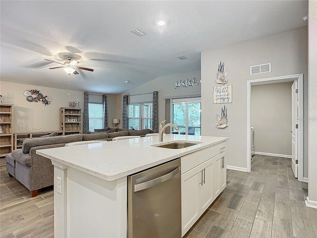
POLYGON ((35 146, 62 144, 81 140, 81 134, 57 135, 53 137, 26 139, 23 141, 22 151, 24 154, 27 154, 30 152, 30 149, 35 146))

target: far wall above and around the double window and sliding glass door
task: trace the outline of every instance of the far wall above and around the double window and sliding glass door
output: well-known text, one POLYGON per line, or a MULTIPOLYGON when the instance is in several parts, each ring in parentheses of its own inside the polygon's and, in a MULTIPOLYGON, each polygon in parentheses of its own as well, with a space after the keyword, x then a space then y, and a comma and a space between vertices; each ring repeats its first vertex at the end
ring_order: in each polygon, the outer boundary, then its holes
MULTIPOLYGON (((179 73, 179 74, 172 74, 164 77, 156 78, 148 83, 145 83, 137 88, 131 89, 119 96, 117 96, 117 115, 116 117, 120 119, 119 127, 122 126, 122 105, 123 105, 123 95, 135 95, 135 94, 142 94, 142 93, 149 93, 153 91, 158 91, 158 110, 159 110, 159 121, 165 120, 165 98, 173 98, 177 96, 189 96, 189 95, 197 95, 201 93, 201 86, 198 85, 193 88, 184 88, 184 89, 174 89, 175 82, 179 80, 186 80, 196 78, 199 82, 201 79, 201 72, 198 71, 191 71, 187 73, 179 73)), ((133 82, 132 82, 133 83, 133 82)), ((139 102, 147 102, 149 98, 152 96, 151 94, 145 95, 137 95, 132 96, 131 99, 133 101, 139 102), (149 96, 150 95, 150 96, 149 96), (135 97, 138 99, 136 100, 135 97)))

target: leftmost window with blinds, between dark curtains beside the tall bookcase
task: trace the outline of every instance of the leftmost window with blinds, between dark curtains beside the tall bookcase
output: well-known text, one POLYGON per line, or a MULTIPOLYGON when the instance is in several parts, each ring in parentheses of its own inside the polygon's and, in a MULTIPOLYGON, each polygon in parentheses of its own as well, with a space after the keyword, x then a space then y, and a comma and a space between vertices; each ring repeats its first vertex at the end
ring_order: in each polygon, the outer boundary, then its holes
POLYGON ((104 128, 103 104, 88 103, 89 131, 104 128))

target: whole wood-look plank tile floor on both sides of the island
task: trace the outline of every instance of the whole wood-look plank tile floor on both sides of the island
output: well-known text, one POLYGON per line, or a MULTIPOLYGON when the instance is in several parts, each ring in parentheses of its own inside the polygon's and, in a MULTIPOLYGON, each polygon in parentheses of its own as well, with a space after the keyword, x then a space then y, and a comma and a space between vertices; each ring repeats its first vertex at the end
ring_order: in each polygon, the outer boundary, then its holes
MULTIPOLYGON (((252 172, 227 170, 227 187, 185 238, 317 238, 317 210, 291 160, 254 156, 252 172), (314 232, 315 231, 315 232, 314 232)), ((53 188, 31 198, 0 159, 0 237, 53 238, 53 188)))

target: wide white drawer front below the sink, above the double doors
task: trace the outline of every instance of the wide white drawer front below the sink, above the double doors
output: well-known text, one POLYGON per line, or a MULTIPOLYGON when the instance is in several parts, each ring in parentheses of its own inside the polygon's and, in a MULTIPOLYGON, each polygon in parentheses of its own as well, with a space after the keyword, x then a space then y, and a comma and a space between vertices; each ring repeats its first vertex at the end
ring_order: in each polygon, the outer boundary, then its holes
POLYGON ((194 152, 189 155, 185 155, 181 157, 181 174, 195 168, 196 166, 204 163, 205 161, 209 160, 215 156, 214 147, 208 147, 201 151, 194 152))

